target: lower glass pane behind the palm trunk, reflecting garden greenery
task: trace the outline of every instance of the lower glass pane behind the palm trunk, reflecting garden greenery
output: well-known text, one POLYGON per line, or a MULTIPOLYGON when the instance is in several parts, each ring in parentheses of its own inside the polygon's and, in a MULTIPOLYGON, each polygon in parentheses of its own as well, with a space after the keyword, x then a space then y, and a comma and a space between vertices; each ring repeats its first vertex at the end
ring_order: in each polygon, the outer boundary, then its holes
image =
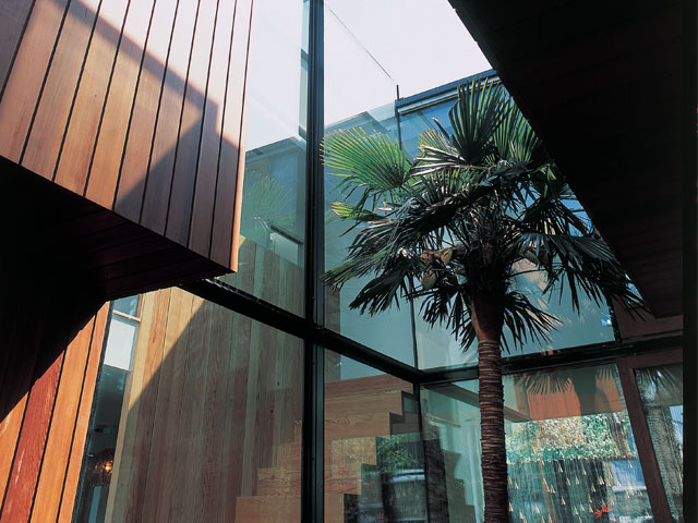
MULTIPOLYGON (((467 381, 422 393, 425 438, 454 454, 446 490, 457 521, 482 521, 477 392, 467 381)), ((504 393, 513 521, 651 516, 615 366, 507 376, 504 393)))

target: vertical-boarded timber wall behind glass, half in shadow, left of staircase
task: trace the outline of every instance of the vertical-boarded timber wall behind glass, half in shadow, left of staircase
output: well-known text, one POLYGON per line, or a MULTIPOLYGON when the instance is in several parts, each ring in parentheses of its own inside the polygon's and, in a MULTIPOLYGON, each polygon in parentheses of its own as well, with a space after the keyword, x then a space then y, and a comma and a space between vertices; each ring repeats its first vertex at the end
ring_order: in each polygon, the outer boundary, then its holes
MULTIPOLYGON (((290 265, 264 259, 267 280, 290 265)), ((301 369, 300 340, 179 289, 144 295, 107 520, 240 521, 238 497, 298 436, 301 369)))

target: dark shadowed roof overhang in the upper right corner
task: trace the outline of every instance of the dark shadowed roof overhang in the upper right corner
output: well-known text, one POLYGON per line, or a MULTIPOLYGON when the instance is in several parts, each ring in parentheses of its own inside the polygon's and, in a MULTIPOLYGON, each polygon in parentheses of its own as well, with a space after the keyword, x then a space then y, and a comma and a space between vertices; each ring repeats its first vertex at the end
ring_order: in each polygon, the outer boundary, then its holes
POLYGON ((682 313, 682 2, 450 0, 657 317, 682 313))

